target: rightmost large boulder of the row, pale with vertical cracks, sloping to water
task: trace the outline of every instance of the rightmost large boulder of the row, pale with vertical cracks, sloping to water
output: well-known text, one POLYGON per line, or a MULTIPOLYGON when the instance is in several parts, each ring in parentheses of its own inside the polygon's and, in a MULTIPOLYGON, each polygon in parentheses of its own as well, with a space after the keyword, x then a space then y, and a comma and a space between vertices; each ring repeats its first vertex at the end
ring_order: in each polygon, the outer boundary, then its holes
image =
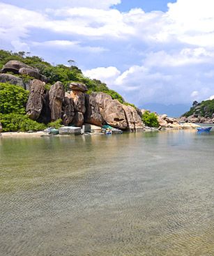
POLYGON ((136 130, 142 130, 144 128, 142 119, 134 107, 123 105, 123 110, 127 120, 127 130, 135 132, 136 130))

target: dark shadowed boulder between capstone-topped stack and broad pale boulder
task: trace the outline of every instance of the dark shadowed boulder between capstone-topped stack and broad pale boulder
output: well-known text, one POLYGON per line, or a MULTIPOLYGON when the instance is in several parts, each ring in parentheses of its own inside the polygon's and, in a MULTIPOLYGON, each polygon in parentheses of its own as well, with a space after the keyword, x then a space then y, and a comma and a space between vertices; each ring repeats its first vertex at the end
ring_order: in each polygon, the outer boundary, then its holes
POLYGON ((98 93, 94 92, 90 95, 85 94, 86 113, 84 115, 84 120, 86 123, 102 126, 102 124, 104 124, 104 119, 102 118, 102 114, 100 114, 100 108, 96 100, 97 95, 98 93))

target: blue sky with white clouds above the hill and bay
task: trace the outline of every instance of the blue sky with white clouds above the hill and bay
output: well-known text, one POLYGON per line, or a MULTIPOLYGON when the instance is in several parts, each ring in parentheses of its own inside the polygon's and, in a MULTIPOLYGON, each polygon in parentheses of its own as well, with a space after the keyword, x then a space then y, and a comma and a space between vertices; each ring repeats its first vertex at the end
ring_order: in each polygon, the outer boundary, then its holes
POLYGON ((0 48, 74 59, 135 105, 214 95, 213 0, 0 0, 0 48))

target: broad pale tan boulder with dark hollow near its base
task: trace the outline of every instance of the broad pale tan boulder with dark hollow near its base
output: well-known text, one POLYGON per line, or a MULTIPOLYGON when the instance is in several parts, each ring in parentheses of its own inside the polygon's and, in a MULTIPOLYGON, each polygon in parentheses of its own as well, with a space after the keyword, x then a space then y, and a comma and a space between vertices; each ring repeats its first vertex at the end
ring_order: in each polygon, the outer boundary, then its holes
POLYGON ((110 126, 125 130, 127 121, 123 106, 118 100, 105 99, 103 101, 102 117, 110 126))

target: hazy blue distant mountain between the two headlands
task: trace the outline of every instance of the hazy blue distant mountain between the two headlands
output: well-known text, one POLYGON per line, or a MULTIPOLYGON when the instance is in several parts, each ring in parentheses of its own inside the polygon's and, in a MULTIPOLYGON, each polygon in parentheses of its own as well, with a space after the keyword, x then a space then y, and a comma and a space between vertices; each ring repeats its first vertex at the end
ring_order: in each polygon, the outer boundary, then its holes
POLYGON ((187 112, 191 107, 191 104, 175 104, 164 105, 160 103, 147 103, 140 106, 140 109, 151 110, 151 112, 157 112, 158 114, 167 114, 167 116, 178 117, 187 112))

